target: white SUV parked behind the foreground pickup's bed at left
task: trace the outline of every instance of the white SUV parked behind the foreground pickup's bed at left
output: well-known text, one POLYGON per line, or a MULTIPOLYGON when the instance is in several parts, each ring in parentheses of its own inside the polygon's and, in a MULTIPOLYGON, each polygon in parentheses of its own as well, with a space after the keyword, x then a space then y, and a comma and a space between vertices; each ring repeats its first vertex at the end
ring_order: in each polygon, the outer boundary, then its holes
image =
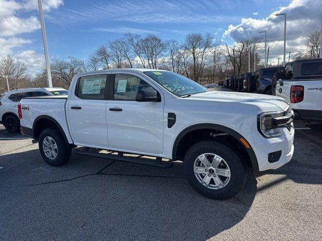
POLYGON ((68 91, 63 88, 30 88, 8 91, 0 98, 0 124, 3 124, 10 133, 19 132, 20 120, 17 105, 22 98, 64 94, 68 94, 68 91))

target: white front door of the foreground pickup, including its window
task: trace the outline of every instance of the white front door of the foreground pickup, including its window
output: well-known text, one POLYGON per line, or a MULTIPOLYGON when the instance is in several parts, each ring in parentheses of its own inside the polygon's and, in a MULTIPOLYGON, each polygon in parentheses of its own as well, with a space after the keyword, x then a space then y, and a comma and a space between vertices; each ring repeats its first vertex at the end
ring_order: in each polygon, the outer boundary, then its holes
POLYGON ((159 154, 163 152, 162 92, 144 77, 132 72, 113 72, 106 118, 110 148, 159 154), (161 102, 137 102, 142 88, 154 88, 161 102))

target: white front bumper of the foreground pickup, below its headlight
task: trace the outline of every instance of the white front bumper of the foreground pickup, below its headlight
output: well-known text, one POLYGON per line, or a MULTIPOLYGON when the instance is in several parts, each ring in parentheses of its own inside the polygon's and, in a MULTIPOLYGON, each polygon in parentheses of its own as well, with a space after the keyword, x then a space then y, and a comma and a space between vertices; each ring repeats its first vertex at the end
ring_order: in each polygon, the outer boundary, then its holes
POLYGON ((258 170, 254 170, 255 176, 261 176, 268 170, 277 169, 288 163, 294 152, 294 127, 291 124, 291 130, 286 127, 279 128, 281 132, 280 137, 263 138, 260 133, 253 133, 247 137, 258 162, 258 170), (252 141, 251 141, 252 140, 252 141), (270 163, 268 155, 273 152, 281 151, 281 157, 278 161, 270 163))

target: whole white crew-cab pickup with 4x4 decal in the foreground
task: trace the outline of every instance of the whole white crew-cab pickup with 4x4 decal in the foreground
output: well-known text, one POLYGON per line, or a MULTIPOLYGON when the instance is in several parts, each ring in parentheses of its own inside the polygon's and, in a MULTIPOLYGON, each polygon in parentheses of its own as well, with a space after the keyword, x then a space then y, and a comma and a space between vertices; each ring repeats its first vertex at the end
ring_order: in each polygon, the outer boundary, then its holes
POLYGON ((164 70, 77 74, 68 97, 24 98, 18 109, 22 133, 39 141, 49 165, 66 163, 75 147, 76 154, 159 167, 180 160, 192 187, 213 199, 236 195, 247 167, 263 175, 294 150, 293 112, 282 98, 211 92, 164 70))

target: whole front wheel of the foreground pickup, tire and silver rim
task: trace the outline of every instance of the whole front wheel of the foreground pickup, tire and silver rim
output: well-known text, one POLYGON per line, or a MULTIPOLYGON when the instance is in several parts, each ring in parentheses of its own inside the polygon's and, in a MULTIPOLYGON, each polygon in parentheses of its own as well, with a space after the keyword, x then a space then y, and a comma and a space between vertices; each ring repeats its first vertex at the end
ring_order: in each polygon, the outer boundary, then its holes
POLYGON ((184 158, 190 185, 201 195, 223 200, 235 196, 244 186, 246 167, 232 149, 217 141, 203 141, 190 147, 184 158))

